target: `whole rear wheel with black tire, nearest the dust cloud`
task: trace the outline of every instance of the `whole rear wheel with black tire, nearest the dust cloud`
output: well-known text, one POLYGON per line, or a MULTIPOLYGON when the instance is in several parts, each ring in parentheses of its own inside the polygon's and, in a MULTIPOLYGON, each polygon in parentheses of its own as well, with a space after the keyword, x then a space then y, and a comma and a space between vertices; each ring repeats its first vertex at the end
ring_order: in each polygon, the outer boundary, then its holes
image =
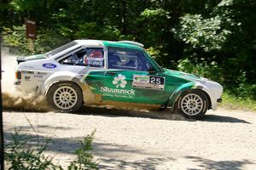
POLYGON ((82 90, 74 82, 53 84, 46 94, 46 99, 55 110, 62 112, 78 111, 84 104, 82 90))

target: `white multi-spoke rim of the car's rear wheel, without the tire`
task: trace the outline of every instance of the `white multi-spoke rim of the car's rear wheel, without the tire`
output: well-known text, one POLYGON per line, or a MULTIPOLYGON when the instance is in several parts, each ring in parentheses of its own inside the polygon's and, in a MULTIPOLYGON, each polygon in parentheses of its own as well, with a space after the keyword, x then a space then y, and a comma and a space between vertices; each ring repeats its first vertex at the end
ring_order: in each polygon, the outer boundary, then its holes
POLYGON ((55 90, 55 94, 53 96, 55 105, 61 110, 71 109, 78 101, 77 92, 69 87, 62 86, 55 90))

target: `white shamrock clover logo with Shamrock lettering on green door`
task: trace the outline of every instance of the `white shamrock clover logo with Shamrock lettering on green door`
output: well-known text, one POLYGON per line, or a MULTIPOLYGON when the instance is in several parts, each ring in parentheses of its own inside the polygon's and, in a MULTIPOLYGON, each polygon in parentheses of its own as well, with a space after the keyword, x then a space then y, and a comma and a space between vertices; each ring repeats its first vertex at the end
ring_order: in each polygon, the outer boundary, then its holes
POLYGON ((127 82, 125 81, 125 76, 119 74, 117 77, 113 78, 112 83, 116 88, 101 87, 101 92, 103 96, 134 98, 136 90, 124 89, 127 84, 127 82))

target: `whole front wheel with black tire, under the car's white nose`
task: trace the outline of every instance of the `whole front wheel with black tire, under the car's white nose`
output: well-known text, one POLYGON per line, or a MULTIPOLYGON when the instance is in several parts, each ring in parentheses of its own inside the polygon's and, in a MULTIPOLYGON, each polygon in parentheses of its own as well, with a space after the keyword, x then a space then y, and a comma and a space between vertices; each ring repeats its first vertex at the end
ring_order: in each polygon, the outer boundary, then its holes
POLYGON ((207 94, 201 90, 188 90, 177 100, 176 110, 188 118, 201 119, 209 108, 207 94))

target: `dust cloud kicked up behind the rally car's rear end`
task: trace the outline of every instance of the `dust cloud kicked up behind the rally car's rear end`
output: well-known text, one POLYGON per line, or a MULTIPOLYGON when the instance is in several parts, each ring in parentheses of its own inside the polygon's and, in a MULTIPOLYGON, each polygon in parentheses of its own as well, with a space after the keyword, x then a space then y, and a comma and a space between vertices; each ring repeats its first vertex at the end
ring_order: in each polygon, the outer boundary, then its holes
POLYGON ((22 94, 15 89, 16 55, 9 48, 2 48, 2 97, 3 109, 11 111, 49 111, 44 96, 22 94))

